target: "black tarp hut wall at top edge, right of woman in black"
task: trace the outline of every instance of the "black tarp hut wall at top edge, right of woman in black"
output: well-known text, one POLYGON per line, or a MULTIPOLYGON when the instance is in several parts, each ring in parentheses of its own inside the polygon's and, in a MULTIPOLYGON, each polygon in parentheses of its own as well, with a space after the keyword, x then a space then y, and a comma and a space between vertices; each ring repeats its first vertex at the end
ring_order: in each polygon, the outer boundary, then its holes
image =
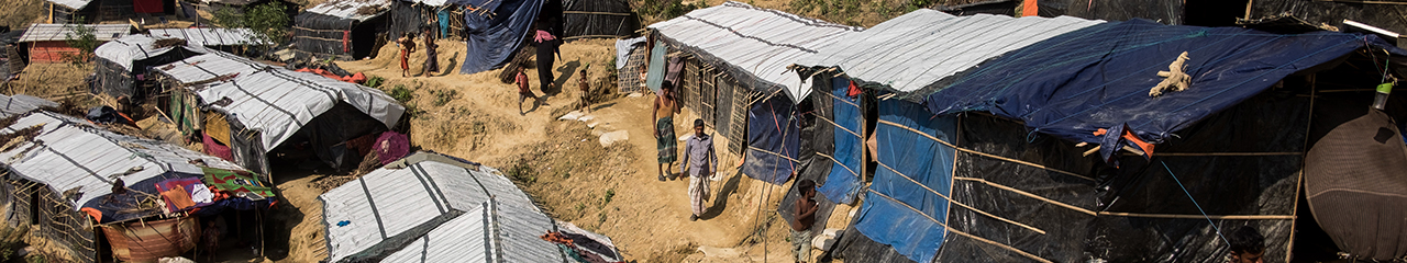
POLYGON ((615 38, 635 35, 640 17, 625 0, 566 0, 563 1, 564 38, 615 38))

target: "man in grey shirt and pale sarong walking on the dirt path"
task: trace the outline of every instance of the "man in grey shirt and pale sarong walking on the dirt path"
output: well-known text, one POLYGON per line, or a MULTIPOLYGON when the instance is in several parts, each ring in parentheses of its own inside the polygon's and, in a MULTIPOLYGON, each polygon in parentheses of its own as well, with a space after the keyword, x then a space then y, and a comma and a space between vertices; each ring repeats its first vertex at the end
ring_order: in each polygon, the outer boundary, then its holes
POLYGON ((718 154, 713 152, 713 137, 704 133, 704 119, 694 119, 694 137, 684 143, 684 162, 680 162, 680 172, 688 171, 689 175, 689 208, 694 213, 689 221, 696 221, 708 211, 704 200, 709 194, 708 178, 715 169, 718 154))

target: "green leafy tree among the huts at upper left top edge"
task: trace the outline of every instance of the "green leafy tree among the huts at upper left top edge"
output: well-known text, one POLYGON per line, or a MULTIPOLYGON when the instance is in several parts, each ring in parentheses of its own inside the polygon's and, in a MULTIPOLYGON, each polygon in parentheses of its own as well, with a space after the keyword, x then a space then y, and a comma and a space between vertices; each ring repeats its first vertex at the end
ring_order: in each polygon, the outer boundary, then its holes
POLYGON ((224 28, 249 28, 263 50, 273 49, 288 41, 288 15, 279 1, 246 7, 243 13, 234 7, 215 11, 215 24, 224 28))

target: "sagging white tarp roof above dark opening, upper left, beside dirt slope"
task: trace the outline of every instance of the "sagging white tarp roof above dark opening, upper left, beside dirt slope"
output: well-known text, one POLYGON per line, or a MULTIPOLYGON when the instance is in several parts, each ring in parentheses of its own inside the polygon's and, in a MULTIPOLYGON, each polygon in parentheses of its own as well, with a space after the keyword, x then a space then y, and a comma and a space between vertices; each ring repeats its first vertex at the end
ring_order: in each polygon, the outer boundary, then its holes
POLYGON ((265 150, 273 150, 338 102, 352 105, 387 129, 395 126, 405 112, 405 106, 380 90, 281 67, 241 74, 198 88, 196 95, 211 109, 232 113, 245 127, 260 130, 265 150), (222 102, 227 99, 228 104, 222 102))

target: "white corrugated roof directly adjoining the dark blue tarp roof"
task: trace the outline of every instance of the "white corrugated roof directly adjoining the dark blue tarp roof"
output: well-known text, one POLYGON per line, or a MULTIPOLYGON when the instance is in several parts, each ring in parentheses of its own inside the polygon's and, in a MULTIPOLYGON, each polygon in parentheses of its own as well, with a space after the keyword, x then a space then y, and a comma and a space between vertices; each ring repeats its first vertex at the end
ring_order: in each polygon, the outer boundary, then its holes
POLYGON ((957 17, 917 10, 854 34, 843 43, 823 46, 816 56, 796 63, 840 66, 850 77, 915 91, 1006 52, 1100 22, 1075 17, 957 17))

